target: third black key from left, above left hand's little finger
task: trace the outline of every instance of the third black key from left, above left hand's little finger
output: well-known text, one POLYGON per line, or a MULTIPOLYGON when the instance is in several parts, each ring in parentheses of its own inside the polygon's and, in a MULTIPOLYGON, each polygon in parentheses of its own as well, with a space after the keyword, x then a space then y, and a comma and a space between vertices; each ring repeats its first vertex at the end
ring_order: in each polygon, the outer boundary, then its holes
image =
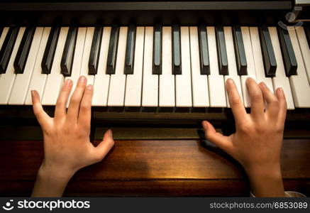
POLYGON ((48 43, 46 43, 43 59, 41 62, 43 74, 50 74, 50 70, 52 70, 52 61, 54 60, 59 33, 60 33, 59 27, 52 27, 50 29, 50 35, 48 36, 48 43))

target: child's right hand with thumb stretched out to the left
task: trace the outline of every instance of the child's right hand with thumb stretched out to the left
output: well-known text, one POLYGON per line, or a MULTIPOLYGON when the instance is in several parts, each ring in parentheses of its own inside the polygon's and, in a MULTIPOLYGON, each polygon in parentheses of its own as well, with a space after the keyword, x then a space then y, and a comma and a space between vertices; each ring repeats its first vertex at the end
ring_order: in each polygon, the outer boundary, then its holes
POLYGON ((265 84, 257 84, 251 78, 246 84, 251 99, 250 114, 246 113, 233 80, 226 82, 236 133, 223 136, 204 121, 206 138, 243 165, 254 195, 284 197, 280 152, 287 105, 283 90, 279 88, 273 94, 265 84))

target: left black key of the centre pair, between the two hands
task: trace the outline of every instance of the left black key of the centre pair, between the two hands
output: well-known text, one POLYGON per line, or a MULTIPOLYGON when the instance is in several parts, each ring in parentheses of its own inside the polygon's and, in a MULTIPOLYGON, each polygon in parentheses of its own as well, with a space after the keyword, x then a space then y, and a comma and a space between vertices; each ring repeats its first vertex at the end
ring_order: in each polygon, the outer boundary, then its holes
POLYGON ((154 27, 153 41, 153 75, 162 74, 162 26, 157 24, 154 27))

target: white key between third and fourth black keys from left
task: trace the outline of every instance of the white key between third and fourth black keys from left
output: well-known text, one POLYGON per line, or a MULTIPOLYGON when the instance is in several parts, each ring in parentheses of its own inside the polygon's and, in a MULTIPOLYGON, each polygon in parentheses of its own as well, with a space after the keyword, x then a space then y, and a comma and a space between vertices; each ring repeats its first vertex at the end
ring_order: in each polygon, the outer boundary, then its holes
POLYGON ((57 97, 60 92, 62 83, 65 77, 61 73, 60 61, 62 58, 62 52, 65 48, 65 42, 67 38, 69 28, 63 27, 60 29, 60 34, 57 41, 57 47, 55 50, 54 61, 52 62, 52 69, 46 80, 42 104, 43 105, 55 105, 57 102, 57 97))

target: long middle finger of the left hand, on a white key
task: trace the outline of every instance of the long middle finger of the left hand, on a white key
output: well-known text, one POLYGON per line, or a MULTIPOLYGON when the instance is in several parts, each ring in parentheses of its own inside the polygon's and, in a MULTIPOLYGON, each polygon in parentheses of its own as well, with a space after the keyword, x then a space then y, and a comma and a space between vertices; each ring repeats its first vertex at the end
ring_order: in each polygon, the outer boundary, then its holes
POLYGON ((81 104, 86 84, 87 84, 86 77, 80 76, 79 81, 77 82, 77 87, 75 88, 72 97, 70 99, 67 111, 68 121, 73 121, 74 123, 77 123, 77 117, 79 116, 79 105, 81 104))

